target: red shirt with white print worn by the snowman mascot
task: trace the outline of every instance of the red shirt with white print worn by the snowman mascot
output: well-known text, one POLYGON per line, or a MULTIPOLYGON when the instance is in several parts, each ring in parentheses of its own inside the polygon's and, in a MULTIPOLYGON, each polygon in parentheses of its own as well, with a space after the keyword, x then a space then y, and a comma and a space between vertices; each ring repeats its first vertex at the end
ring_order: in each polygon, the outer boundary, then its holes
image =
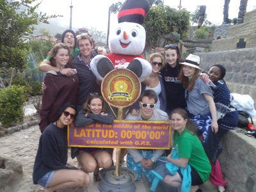
POLYGON ((112 61, 115 68, 127 68, 131 61, 134 60, 134 58, 142 58, 145 60, 141 54, 134 56, 127 54, 115 54, 111 52, 106 56, 109 58, 109 60, 112 61))

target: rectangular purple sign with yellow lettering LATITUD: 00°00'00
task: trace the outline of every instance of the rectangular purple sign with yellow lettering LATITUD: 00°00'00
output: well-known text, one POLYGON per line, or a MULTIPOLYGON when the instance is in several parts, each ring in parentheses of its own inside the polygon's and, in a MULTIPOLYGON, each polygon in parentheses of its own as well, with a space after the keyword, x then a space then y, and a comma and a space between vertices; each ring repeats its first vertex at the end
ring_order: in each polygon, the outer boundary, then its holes
POLYGON ((118 121, 112 125, 91 124, 68 127, 69 147, 169 149, 168 122, 118 121))

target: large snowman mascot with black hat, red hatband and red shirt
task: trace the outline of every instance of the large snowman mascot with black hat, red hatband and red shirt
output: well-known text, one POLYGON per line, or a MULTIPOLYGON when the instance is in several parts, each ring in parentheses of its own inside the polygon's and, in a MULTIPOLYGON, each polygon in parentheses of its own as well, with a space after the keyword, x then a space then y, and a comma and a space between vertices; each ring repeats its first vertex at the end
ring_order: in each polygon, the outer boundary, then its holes
POLYGON ((126 0, 118 13, 118 26, 109 34, 110 54, 93 58, 93 74, 102 81, 115 68, 127 68, 141 82, 152 72, 152 67, 141 55, 145 47, 146 31, 141 26, 150 5, 147 0, 126 0))

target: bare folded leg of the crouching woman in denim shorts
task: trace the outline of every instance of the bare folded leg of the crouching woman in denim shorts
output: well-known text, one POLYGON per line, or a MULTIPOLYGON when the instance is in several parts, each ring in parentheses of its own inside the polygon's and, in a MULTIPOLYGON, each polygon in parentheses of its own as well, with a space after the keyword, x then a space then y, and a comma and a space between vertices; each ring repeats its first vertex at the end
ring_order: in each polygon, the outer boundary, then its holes
POLYGON ((58 189, 72 188, 76 186, 88 186, 90 176, 81 170, 56 170, 52 180, 45 192, 52 192, 58 189))

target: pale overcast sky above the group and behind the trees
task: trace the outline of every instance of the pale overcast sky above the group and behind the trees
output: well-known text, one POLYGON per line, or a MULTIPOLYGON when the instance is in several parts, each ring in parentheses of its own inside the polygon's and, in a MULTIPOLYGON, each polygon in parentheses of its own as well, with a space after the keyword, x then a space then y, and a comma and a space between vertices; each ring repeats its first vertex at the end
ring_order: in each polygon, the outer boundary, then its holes
MULTIPOLYGON (((97 28, 107 31, 108 28, 108 8, 112 3, 118 0, 72 0, 72 26, 75 28, 97 28)), ((124 2, 124 0, 121 0, 124 2)), ((138 0, 139 1, 139 0, 138 0)), ((194 12, 197 5, 205 5, 207 19, 214 24, 223 22, 223 6, 225 0, 181 0, 182 8, 189 12, 194 12)), ((47 15, 63 15, 58 23, 61 26, 70 24, 70 4, 71 0, 43 0, 40 4, 40 10, 47 15)), ((177 8, 180 0, 164 0, 165 5, 177 8)), ((229 18, 238 17, 240 0, 231 0, 229 4, 229 18)), ((253 10, 256 6, 255 0, 248 0, 247 12, 253 10)), ((177 8, 178 9, 178 8, 177 8)), ((51 20, 49 20, 51 22, 51 20)), ((117 23, 117 14, 111 14, 111 26, 117 23)))

